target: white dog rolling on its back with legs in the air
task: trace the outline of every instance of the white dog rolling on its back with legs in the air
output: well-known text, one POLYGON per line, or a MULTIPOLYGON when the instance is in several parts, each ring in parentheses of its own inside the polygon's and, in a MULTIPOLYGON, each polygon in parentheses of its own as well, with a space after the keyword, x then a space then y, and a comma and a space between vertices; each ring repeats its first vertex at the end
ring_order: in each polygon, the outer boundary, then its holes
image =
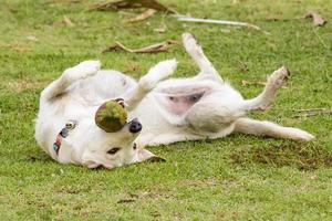
POLYGON ((41 94, 35 125, 39 145, 62 164, 114 168, 158 159, 143 148, 146 145, 215 139, 235 131, 295 140, 313 138, 298 128, 246 117, 249 110, 271 105, 289 76, 286 67, 268 77, 260 95, 243 99, 222 81, 191 34, 185 33, 183 41, 200 69, 191 78, 164 81, 175 71, 176 60, 158 63, 138 83, 116 71, 100 71, 98 61, 65 70, 41 94), (118 97, 127 104, 133 120, 120 131, 106 133, 95 124, 96 109, 118 97))

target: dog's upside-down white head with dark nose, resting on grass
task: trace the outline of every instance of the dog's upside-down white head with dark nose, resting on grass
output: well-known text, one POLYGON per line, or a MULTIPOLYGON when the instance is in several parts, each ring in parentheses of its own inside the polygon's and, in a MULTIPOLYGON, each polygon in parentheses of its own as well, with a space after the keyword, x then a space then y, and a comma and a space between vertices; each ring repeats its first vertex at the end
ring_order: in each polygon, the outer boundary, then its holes
MULTIPOLYGON (((125 108, 123 101, 117 102, 125 108)), ((164 161, 136 145, 135 139, 141 130, 142 125, 136 118, 111 133, 101 128, 96 122, 86 119, 80 122, 71 140, 75 140, 73 146, 84 146, 81 161, 89 168, 102 166, 112 169, 145 160, 164 161)))

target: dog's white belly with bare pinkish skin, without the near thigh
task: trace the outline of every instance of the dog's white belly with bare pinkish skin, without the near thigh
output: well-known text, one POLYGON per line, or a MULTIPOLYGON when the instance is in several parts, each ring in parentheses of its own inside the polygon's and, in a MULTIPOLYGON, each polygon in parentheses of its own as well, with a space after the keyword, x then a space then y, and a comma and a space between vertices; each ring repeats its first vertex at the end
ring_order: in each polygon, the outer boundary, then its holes
POLYGON ((212 90, 212 86, 206 84, 170 85, 164 84, 152 91, 129 114, 131 118, 137 117, 141 120, 143 134, 167 133, 174 127, 185 127, 187 112, 212 90))

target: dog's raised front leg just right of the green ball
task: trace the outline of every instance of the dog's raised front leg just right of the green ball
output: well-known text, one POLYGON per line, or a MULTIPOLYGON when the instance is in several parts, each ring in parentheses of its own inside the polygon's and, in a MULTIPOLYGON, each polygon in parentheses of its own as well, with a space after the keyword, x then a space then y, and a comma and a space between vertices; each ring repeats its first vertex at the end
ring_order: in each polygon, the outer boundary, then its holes
POLYGON ((176 66, 177 61, 175 59, 159 62, 153 66, 146 75, 141 77, 137 85, 123 96, 127 104, 127 109, 135 109, 145 95, 147 95, 160 81, 174 73, 176 66))

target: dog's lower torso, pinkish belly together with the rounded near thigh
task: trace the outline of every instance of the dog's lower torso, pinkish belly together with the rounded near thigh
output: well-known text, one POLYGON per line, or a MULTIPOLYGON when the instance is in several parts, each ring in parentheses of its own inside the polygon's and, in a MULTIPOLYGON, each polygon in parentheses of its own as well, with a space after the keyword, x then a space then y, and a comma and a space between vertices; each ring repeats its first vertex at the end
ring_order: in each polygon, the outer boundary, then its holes
POLYGON ((237 110, 242 101, 228 84, 168 80, 142 101, 133 116, 142 120, 143 135, 179 128, 196 135, 222 134, 225 129, 231 130, 232 123, 243 115, 237 110))

